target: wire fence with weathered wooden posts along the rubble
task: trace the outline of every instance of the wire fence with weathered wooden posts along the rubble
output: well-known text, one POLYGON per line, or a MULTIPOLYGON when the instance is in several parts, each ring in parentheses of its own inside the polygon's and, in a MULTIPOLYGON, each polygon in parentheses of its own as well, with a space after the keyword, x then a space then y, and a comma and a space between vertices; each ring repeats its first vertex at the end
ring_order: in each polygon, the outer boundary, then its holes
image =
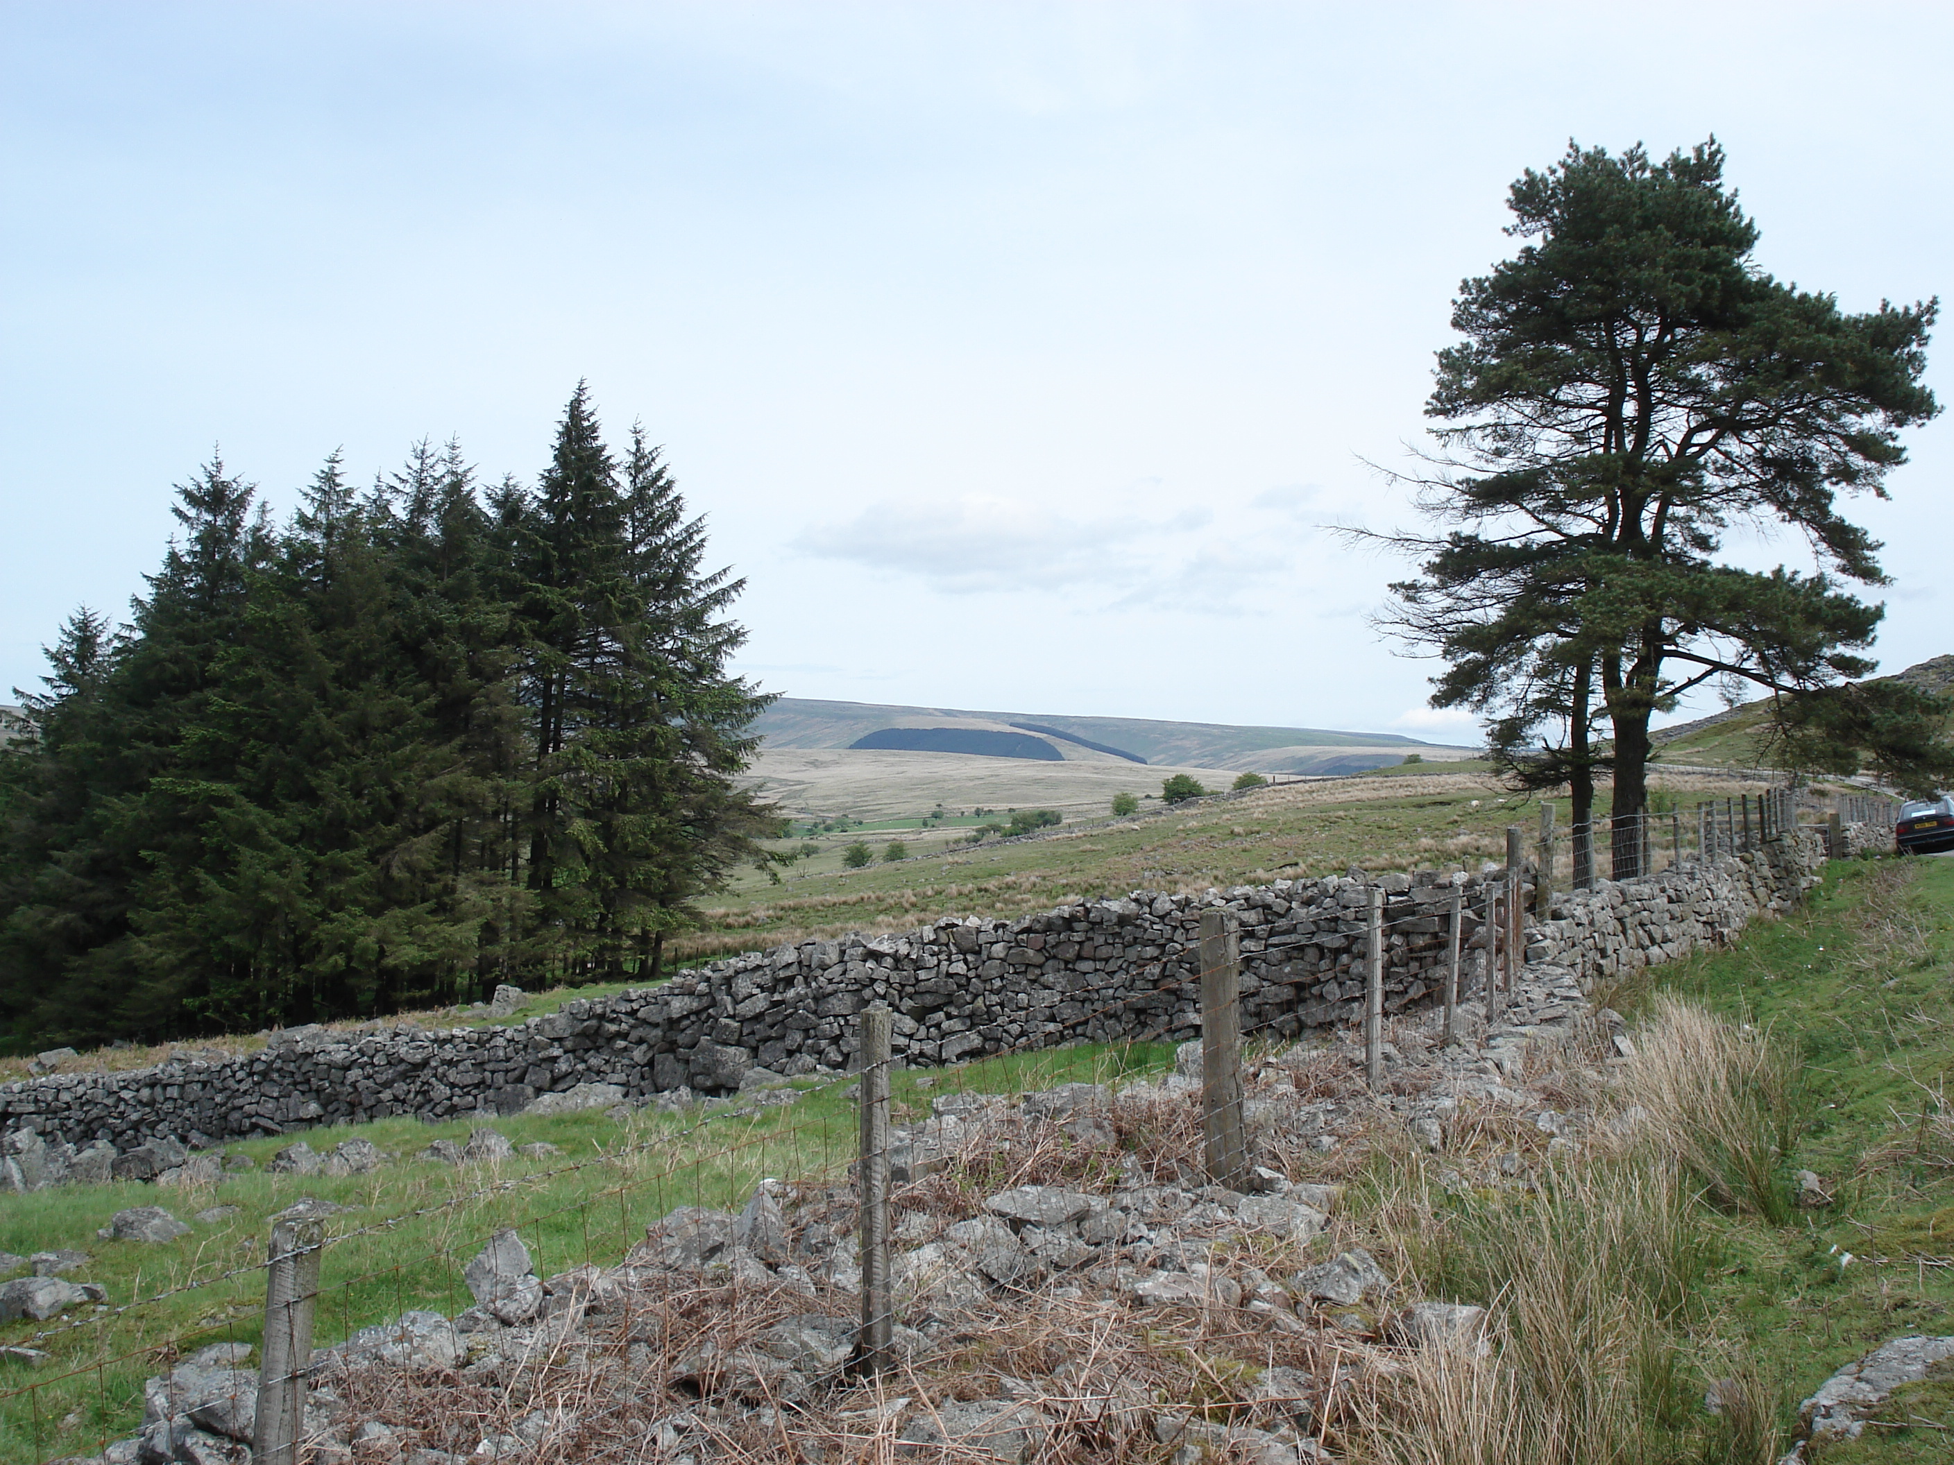
MULTIPOLYGON (((1891 801, 1852 797, 1831 811, 1831 822, 1891 824, 1891 801)), ((1352 942, 1350 969, 1358 969, 1360 957, 1370 1084, 1381 1086, 1385 975, 1393 949, 1405 961, 1399 967, 1405 981, 1417 971, 1432 973, 1417 961, 1430 957, 1436 963, 1446 1041, 1460 1035, 1458 1014, 1467 1000, 1477 998, 1485 1020, 1497 1022, 1518 988, 1526 916, 1548 912, 1563 844, 1573 883, 1581 887, 1583 879, 1589 885, 1594 879, 1596 844, 1608 852, 1612 875, 1630 879, 1690 859, 1759 850, 1798 822, 1800 807, 1790 791, 1594 820, 1565 836, 1555 832, 1548 809, 1532 863, 1522 848, 1524 832, 1514 826, 1507 838, 1507 865, 1475 889, 1452 881, 1436 891, 1399 891, 1393 900, 1380 885, 1368 887, 1362 904, 1344 908, 1340 926, 1362 938, 1352 942)), ((1073 1016, 1051 1018, 1061 1029, 1057 1041, 1049 1031, 1032 1031, 1018 1043, 940 1070, 942 1078, 952 1090, 965 1088, 985 1065, 1034 1053, 1057 1072, 1065 1065, 1063 1043, 1094 1037, 1114 1039, 1096 1059, 1096 1072, 1126 1072, 1161 1063, 1159 1053, 1135 1055, 1135 1049, 1190 1033, 1198 1012, 1204 1149, 1188 1158, 1217 1182, 1241 1186, 1253 1158, 1241 1117, 1243 1043, 1294 1035, 1301 994, 1296 988, 1288 996, 1270 994, 1270 986, 1280 984, 1260 984, 1256 1014, 1245 1024, 1239 936, 1229 912, 1210 908, 1200 918, 1198 938, 1186 940, 1184 949, 1069 992, 1073 1016), (1131 1031, 1127 1018, 1135 1006, 1145 1012, 1141 1035, 1120 1037, 1118 1029, 1131 1031), (1118 1027, 1114 1018, 1122 1020, 1118 1027)), ((262 1260, 215 1266, 150 1291, 137 1287, 129 1303, 33 1332, 23 1344, 33 1350, 45 1344, 51 1354, 45 1371, 0 1389, 6 1457, 49 1461, 57 1449, 72 1457, 84 1440, 94 1440, 100 1453, 127 1436, 145 1408, 145 1377, 156 1369, 168 1373, 172 1361, 197 1348, 231 1344, 233 1361, 248 1358, 252 1348, 260 1354, 254 1457, 260 1465, 297 1465, 305 1381, 320 1340, 338 1346, 383 1324, 404 1340, 403 1318, 414 1311, 461 1317, 477 1303, 465 1268, 502 1233, 522 1238, 535 1277, 565 1277, 578 1268, 631 1260, 649 1229, 674 1207, 690 1205, 696 1215, 739 1207, 770 1178, 854 1186, 864 1207, 856 1225, 864 1318, 858 1363, 873 1369, 887 1358, 893 1317, 889 1166, 903 1158, 911 1178, 924 1168, 911 1137, 891 1123, 893 1022, 871 1002, 858 1016, 852 1070, 795 1080, 791 1100, 782 1090, 758 1090, 694 1115, 643 1109, 625 1123, 617 1143, 598 1145, 590 1154, 561 1164, 502 1158, 444 1172, 451 1174, 444 1193, 418 1195, 383 1217, 363 1219, 338 1207, 285 1211, 274 1221, 262 1260), (854 1113, 844 1111, 850 1084, 858 1086, 854 1113), (188 1293, 203 1293, 211 1311, 180 1322, 176 1317, 188 1293)), ((1010 1082, 1010 1074, 1000 1078, 1010 1082)), ((438 1186, 430 1182, 424 1190, 438 1186)), ((387 1336, 365 1338, 369 1350, 385 1342, 387 1336)), ((662 1379, 653 1387, 662 1389, 662 1379)), ((172 1401, 164 1397, 149 1406, 150 1414, 162 1412, 168 1428, 172 1401)))

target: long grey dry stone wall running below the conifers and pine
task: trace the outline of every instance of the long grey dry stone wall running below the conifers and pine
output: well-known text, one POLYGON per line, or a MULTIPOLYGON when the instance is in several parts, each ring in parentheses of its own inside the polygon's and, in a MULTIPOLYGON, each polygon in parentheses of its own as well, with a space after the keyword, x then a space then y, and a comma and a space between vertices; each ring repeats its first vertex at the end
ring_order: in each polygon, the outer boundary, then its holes
MULTIPOLYGON (((1602 883, 1530 924, 1528 959, 1583 984, 1727 942, 1759 910, 1796 900, 1821 861, 1815 832, 1763 852, 1602 883)), ((1385 1008, 1428 1000, 1446 961, 1454 881, 1464 940, 1477 936, 1481 877, 1385 875, 1385 1008)), ((1135 893, 1020 920, 940 920, 901 936, 803 942, 713 963, 657 988, 573 1000, 510 1027, 279 1033, 227 1061, 53 1074, 0 1086, 0 1188, 41 1184, 80 1154, 100 1164, 174 1139, 193 1149, 322 1123, 412 1113, 512 1113, 543 1094, 616 1084, 633 1100, 739 1088, 754 1067, 844 1070, 854 1014, 895 1008, 913 1067, 1069 1041, 1184 1039, 1200 1029, 1198 928, 1225 906, 1241 930, 1243 1027, 1296 1035, 1360 1016, 1368 885, 1276 881, 1208 895, 1135 893), (29 1168, 33 1168, 29 1166, 29 1168)))

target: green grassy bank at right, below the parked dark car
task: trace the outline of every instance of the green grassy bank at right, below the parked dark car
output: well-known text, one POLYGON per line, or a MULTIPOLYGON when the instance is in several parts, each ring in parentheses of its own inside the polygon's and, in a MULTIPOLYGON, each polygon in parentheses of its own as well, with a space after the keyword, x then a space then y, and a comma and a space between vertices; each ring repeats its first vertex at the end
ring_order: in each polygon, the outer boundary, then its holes
MULTIPOLYGON (((1805 1063, 1813 1127, 1794 1164, 1815 1170, 1837 1203, 1784 1229, 1729 1221, 1706 1299, 1788 1402, 1890 1338, 1954 1332, 1950 957, 1954 861, 1882 861, 1833 865, 1807 910, 1659 973, 1663 986, 1768 1026, 1805 1063), (1841 1266, 1841 1252, 1856 1260, 1841 1266)), ((1868 1430, 1823 1459, 1954 1455, 1944 1383, 1909 1391, 1888 1418, 1905 1428, 1868 1430)))

